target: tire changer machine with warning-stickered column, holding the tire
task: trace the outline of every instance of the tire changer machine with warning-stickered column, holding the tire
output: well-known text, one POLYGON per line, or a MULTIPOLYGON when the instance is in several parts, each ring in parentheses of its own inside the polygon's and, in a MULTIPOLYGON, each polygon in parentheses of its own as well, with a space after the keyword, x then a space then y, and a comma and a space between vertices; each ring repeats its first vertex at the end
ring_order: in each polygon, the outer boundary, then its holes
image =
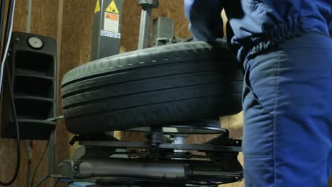
MULTIPOLYGON (((123 0, 98 0, 94 13, 92 60, 119 53, 122 4, 123 0), (106 21, 112 11, 118 17, 106 21)), ((159 1, 139 0, 139 4, 142 13, 138 50, 142 50, 148 47, 151 13, 159 6, 159 1)), ((174 37, 174 23, 170 18, 160 17, 153 21, 154 46, 190 40, 192 38, 181 40, 174 37)), ((60 119, 51 118, 48 123, 60 119)), ((76 149, 72 159, 60 164, 55 157, 55 131, 50 131, 48 176, 68 181, 70 187, 199 187, 243 179, 243 168, 238 162, 241 140, 229 138, 228 130, 221 128, 219 120, 128 131, 145 132, 147 141, 124 142, 116 139, 113 132, 77 135, 70 144, 78 142, 82 147, 76 149), (204 144, 190 145, 186 143, 189 134, 217 134, 218 137, 204 144)), ((45 179, 36 186, 43 181, 45 179)))

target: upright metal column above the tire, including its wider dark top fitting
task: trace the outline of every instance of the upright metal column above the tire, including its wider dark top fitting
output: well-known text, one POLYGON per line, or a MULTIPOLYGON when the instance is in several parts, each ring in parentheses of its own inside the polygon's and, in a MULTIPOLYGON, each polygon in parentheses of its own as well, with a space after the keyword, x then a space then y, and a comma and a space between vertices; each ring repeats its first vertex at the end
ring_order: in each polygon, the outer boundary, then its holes
POLYGON ((159 0, 139 0, 138 4, 142 6, 140 15, 140 34, 138 38, 138 50, 148 47, 150 38, 150 21, 153 8, 159 6, 159 0))

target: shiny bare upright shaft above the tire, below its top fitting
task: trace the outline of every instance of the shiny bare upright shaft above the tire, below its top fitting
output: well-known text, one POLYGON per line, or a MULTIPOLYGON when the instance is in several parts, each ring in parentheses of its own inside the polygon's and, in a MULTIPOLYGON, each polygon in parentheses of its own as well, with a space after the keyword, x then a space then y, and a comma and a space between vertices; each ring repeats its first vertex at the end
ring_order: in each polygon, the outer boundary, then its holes
POLYGON ((144 7, 140 15, 140 35, 138 38, 138 50, 148 47, 149 34, 150 34, 150 21, 151 21, 152 8, 144 7))

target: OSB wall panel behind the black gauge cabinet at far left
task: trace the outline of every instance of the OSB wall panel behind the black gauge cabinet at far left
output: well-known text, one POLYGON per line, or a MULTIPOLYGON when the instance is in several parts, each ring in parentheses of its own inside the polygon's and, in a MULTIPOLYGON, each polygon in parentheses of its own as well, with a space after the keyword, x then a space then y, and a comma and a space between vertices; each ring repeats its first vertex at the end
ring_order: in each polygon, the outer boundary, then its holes
MULTIPOLYGON (((1 0, 4 1, 4 0, 1 0)), ((8 1, 7 1, 8 3, 8 1)), ((24 32, 26 30, 26 1, 16 1, 16 11, 14 17, 14 31, 24 32)), ((34 0, 31 33, 38 35, 46 35, 52 38, 57 36, 57 0, 34 0)), ((45 149, 45 141, 36 142, 33 149, 33 169, 35 168, 40 155, 45 149)), ((47 171, 47 158, 41 164, 37 172, 36 180, 42 178, 47 171)), ((26 186, 28 157, 23 142, 21 142, 21 171, 18 179, 13 183, 13 187, 26 186)), ((13 176, 16 166, 16 140, 0 139, 0 180, 8 182, 13 176)), ((48 182, 49 183, 49 182, 48 182)), ((44 183, 42 186, 50 186, 44 183)))

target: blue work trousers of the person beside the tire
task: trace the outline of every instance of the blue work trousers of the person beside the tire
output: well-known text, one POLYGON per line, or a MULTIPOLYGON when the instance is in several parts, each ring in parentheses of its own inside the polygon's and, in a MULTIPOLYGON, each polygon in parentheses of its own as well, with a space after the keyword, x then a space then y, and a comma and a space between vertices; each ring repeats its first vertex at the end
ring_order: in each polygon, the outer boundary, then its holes
POLYGON ((332 169, 332 40, 308 33, 245 59, 246 187, 327 186, 332 169))

